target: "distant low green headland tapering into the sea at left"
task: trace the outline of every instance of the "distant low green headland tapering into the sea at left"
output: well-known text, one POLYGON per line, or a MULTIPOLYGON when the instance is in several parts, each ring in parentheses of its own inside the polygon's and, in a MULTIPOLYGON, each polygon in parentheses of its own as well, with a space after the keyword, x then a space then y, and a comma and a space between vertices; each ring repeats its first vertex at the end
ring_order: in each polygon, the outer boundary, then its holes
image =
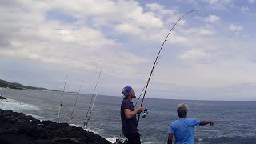
MULTIPOLYGON (((42 87, 24 86, 20 83, 7 82, 2 79, 0 79, 0 87, 10 88, 10 89, 18 89, 18 90, 49 90, 49 89, 42 88, 42 87)), ((52 90, 52 91, 58 91, 58 90, 52 90)))

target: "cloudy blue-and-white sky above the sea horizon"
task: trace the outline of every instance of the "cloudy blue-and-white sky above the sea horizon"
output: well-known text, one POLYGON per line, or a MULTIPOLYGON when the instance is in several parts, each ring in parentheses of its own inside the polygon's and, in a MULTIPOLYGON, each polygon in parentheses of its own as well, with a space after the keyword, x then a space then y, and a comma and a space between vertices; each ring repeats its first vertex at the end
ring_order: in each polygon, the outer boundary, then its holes
POLYGON ((122 97, 256 100, 256 0, 2 0, 0 79, 122 97))

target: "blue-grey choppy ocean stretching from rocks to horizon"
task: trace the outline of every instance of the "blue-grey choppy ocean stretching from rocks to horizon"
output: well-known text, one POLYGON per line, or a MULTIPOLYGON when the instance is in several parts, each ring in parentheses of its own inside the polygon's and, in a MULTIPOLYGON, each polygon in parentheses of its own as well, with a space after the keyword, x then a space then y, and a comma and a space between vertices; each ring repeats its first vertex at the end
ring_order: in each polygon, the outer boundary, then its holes
MULTIPOLYGON (((14 110, 32 115, 40 120, 57 122, 62 92, 46 90, 12 90, 0 88, 0 94, 8 98, 1 101, 0 109, 14 110)), ((77 94, 65 93, 62 101, 60 122, 69 122, 77 94)), ((72 124, 82 126, 90 104, 90 94, 80 94, 74 109, 72 124)), ((134 104, 137 99, 134 99, 134 104)), ((99 95, 94 104, 88 130, 115 142, 122 132, 120 97, 99 95)), ((145 98, 143 106, 148 109, 146 118, 140 118, 138 130, 142 143, 162 144, 167 142, 171 122, 178 118, 175 106, 186 102, 188 117, 216 121, 214 126, 194 128, 196 143, 246 143, 256 144, 256 102, 198 101, 145 98)), ((123 138, 123 137, 122 137, 123 138)))

